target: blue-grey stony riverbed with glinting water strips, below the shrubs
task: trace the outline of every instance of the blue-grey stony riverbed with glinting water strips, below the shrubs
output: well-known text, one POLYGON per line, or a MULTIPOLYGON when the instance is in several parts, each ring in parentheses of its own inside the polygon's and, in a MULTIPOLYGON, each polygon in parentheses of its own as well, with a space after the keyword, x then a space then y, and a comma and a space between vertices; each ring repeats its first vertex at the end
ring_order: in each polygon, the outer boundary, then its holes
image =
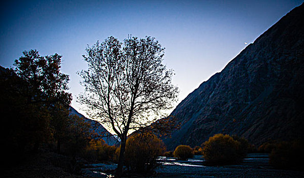
MULTIPOLYGON (((280 170, 272 168, 267 154, 248 154, 242 164, 228 166, 204 166, 204 159, 195 156, 188 161, 177 161, 175 158, 160 157, 154 175, 146 177, 304 177, 304 171, 280 170)), ((110 177, 108 170, 115 165, 93 164, 85 168, 85 175, 91 177, 110 177)), ((127 176, 126 176, 127 177, 127 176)), ((131 175, 129 177, 145 177, 131 175)))

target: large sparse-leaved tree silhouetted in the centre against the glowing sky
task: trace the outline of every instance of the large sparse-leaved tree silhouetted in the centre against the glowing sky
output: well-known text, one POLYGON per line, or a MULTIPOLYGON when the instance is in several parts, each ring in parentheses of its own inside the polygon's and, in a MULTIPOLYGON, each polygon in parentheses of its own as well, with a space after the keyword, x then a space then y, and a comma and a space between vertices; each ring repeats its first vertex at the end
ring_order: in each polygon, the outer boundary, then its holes
POLYGON ((152 37, 129 37, 123 46, 109 37, 88 46, 83 55, 88 70, 79 74, 86 93, 78 100, 87 106, 89 116, 111 126, 121 139, 116 177, 122 175, 128 132, 164 117, 176 99, 173 72, 161 64, 163 51, 152 37))

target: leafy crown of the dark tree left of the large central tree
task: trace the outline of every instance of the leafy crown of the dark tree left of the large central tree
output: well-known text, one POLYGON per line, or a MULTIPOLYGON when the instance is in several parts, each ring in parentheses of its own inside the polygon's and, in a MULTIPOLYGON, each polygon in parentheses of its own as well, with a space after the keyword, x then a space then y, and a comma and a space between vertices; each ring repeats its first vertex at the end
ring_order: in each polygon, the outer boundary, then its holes
POLYGON ((68 75, 60 72, 61 55, 40 56, 37 50, 24 51, 15 60, 16 74, 28 83, 28 102, 44 102, 69 105, 72 94, 66 93, 68 75))

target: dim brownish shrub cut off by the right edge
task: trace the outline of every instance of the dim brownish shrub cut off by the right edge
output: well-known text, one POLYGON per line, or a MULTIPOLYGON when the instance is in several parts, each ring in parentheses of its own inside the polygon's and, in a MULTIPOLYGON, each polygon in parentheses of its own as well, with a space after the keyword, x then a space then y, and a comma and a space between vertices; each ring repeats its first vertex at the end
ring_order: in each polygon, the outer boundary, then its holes
POLYGON ((269 163, 275 168, 303 170, 303 151, 303 141, 279 142, 269 156, 269 163))

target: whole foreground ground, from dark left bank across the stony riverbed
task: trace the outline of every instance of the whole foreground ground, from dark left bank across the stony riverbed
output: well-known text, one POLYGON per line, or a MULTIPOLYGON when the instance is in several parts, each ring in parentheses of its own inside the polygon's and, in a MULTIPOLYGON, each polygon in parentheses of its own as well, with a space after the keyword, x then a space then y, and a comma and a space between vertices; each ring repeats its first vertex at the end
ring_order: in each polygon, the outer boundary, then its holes
MULTIPOLYGON (((27 164, 16 165, 13 169, 2 167, 0 177, 112 177, 115 164, 86 164, 82 175, 67 173, 66 170, 54 166, 52 157, 39 156, 31 158, 27 164), (39 161, 36 161, 39 160, 39 161)), ((160 164, 155 174, 146 177, 304 177, 303 171, 274 169, 268 164, 267 154, 249 154, 242 164, 229 166, 204 166, 204 159, 195 156, 188 161, 177 161, 174 158, 160 157, 160 164)), ((144 177, 132 174, 126 177, 144 177)))

